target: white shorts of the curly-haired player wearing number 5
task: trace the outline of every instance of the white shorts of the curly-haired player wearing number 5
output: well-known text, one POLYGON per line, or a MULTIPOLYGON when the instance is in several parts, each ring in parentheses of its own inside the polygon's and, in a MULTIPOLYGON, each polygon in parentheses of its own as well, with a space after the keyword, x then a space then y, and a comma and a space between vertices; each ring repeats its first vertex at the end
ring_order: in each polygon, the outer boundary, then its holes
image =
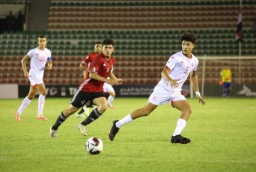
POLYGON ((168 91, 164 86, 156 85, 149 97, 149 102, 155 105, 172 103, 173 101, 186 100, 181 91, 168 91))

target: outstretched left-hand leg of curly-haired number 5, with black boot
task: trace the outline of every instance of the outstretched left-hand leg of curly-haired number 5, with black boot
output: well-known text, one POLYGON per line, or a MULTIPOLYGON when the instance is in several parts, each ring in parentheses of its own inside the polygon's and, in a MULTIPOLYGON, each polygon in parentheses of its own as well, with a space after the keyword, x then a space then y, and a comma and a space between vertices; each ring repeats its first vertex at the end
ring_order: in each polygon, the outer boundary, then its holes
POLYGON ((113 141, 115 139, 115 135, 118 133, 119 129, 127 123, 130 123, 133 121, 133 119, 139 118, 141 116, 147 116, 149 115, 153 110, 156 109, 158 105, 147 102, 146 106, 142 107, 141 109, 137 109, 133 111, 132 113, 124 116, 124 118, 120 119, 120 121, 115 120, 113 121, 112 128, 109 132, 109 139, 110 141, 113 141))

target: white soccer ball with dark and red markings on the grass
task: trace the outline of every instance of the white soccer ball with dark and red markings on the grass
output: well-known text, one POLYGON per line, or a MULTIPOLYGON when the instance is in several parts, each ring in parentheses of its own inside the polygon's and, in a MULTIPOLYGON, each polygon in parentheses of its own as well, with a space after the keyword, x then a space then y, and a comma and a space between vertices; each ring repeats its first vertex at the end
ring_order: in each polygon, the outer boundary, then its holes
POLYGON ((85 148, 91 154, 99 154, 103 150, 103 142, 99 138, 92 137, 86 141, 85 148))

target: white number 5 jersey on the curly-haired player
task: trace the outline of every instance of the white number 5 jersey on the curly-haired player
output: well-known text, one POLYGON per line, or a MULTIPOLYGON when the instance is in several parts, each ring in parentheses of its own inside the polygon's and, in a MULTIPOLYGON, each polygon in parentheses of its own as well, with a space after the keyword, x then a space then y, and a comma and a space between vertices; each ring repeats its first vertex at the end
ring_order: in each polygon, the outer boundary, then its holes
POLYGON ((198 59, 191 54, 191 58, 184 56, 182 51, 173 54, 165 65, 165 68, 170 69, 169 76, 173 80, 178 80, 179 88, 171 88, 170 84, 164 77, 161 78, 158 85, 164 86, 170 92, 181 91, 182 85, 187 80, 188 75, 192 71, 196 71, 198 59))

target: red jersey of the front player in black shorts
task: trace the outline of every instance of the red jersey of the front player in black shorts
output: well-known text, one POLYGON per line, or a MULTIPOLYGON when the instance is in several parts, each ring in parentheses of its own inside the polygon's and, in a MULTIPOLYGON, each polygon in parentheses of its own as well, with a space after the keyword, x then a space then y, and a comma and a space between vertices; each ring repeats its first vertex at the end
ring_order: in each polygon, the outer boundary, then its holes
MULTIPOLYGON (((94 72, 103 78, 107 78, 114 64, 115 59, 113 57, 107 60, 104 54, 99 54, 92 60, 89 73, 94 72)), ((78 89, 82 89, 83 92, 103 92, 103 84, 103 81, 94 80, 87 75, 78 89)))

